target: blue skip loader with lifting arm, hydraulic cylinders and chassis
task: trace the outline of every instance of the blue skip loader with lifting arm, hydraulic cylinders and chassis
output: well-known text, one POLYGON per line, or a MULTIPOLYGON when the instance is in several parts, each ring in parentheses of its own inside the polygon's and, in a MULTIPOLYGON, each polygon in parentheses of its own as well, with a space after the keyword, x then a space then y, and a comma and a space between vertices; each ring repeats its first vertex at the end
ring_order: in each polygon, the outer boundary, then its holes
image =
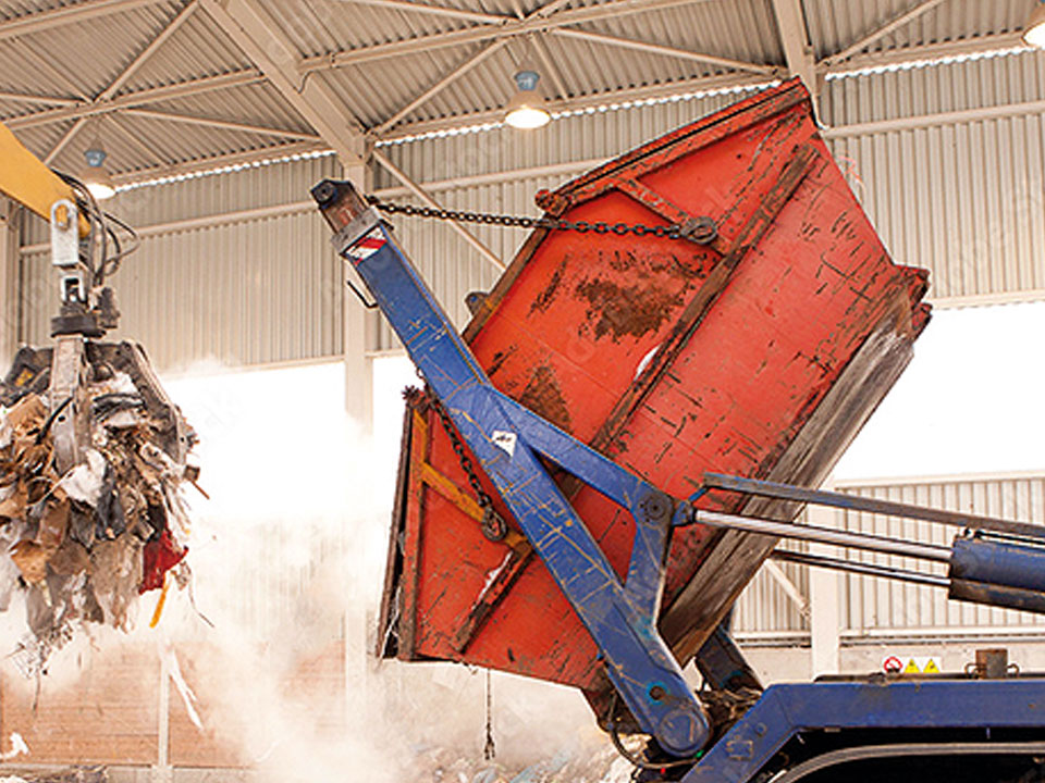
MULTIPOLYGON (((902 744, 890 739, 885 749, 877 751, 882 757, 1045 753, 1045 743, 1037 741, 1045 734, 1045 680, 1036 678, 776 685, 765 689, 732 728, 714 736, 708 711, 685 682, 656 627, 671 531, 694 522, 746 524, 753 530, 765 524, 774 525, 765 527, 774 535, 810 538, 816 535, 815 529, 698 511, 689 500, 666 495, 505 396, 490 383, 378 212, 367 207, 349 183, 324 181, 314 188, 312 195, 335 231, 333 244, 339 256, 359 273, 432 393, 591 633, 606 673, 639 729, 654 737, 671 756, 693 762, 681 780, 752 780, 789 742, 821 730, 985 730, 987 739, 992 731, 1029 731, 1033 735, 1028 741, 1024 734, 1018 734, 1020 742, 993 745, 902 744), (635 542, 623 582, 540 458, 631 513, 635 542)), ((702 492, 714 489, 802 502, 860 502, 800 487, 709 475, 702 492)), ((894 507, 886 512, 919 515, 919 511, 927 513, 930 521, 967 525, 976 532, 959 536, 949 555, 945 548, 936 547, 943 556, 927 549, 905 550, 902 542, 860 534, 849 534, 844 545, 871 550, 887 546, 890 548, 886 551, 949 559, 952 597, 1045 610, 1045 548, 1041 531, 1020 523, 966 515, 933 519, 931 511, 911 507, 894 507)), ((712 663, 709 668, 713 686, 725 683, 746 667, 722 630, 705 645, 702 656, 705 663, 712 663)), ((845 743, 833 753, 835 756, 828 754, 824 758, 840 763, 860 757, 845 743)), ((866 748, 863 755, 868 755, 866 748)), ((828 760, 821 762, 827 763, 828 760)), ((791 770, 788 780, 800 771, 791 770)))

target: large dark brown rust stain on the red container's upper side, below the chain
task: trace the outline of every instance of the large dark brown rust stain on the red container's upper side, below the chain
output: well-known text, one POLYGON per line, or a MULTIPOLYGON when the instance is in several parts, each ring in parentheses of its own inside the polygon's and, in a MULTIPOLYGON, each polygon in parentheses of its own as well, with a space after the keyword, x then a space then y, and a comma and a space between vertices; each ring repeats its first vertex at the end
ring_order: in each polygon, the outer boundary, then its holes
POLYGON ((619 341, 625 335, 641 337, 655 332, 674 310, 683 304, 680 291, 663 291, 649 286, 620 286, 613 281, 585 281, 577 286, 577 296, 589 303, 586 313, 595 339, 613 336, 619 341))

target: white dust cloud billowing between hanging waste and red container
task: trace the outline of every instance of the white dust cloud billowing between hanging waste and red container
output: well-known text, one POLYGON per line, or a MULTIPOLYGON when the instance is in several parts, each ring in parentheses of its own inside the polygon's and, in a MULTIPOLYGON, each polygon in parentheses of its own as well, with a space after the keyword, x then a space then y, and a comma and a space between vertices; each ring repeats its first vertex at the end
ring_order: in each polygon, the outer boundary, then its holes
POLYGON ((378 374, 373 437, 344 413, 339 363, 163 380, 200 436, 210 496, 188 497, 192 591, 171 592, 156 629, 150 593, 130 636, 99 630, 60 650, 40 714, 124 656, 145 661, 146 714, 170 700, 175 767, 248 767, 281 783, 627 780, 570 688, 494 673, 485 761, 485 672, 374 659, 409 381, 402 368, 378 374))

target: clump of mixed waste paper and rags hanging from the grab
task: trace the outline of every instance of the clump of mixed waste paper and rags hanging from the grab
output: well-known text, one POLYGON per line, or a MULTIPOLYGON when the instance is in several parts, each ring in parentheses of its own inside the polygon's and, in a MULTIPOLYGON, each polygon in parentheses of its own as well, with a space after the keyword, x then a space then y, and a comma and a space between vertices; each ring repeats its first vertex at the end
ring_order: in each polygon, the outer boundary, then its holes
POLYGON ((0 384, 0 611, 24 594, 27 631, 12 658, 26 676, 84 623, 130 630, 142 593, 184 587, 183 495, 196 440, 132 343, 88 343, 81 382, 52 399, 51 349, 23 348, 0 384), (61 471, 56 422, 79 417, 61 471), (169 579, 172 577, 172 579, 169 579))

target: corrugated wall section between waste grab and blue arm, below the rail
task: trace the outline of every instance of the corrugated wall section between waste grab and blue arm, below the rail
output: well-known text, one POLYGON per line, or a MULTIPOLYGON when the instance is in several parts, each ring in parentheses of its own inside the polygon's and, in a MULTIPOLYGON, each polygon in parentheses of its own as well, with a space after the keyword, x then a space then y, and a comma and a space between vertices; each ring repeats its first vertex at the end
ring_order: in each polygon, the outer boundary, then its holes
MULTIPOLYGON (((112 278, 120 331, 158 370, 260 364, 342 352, 342 269, 308 210, 147 237, 112 278)), ((46 252, 22 259, 23 333, 48 340, 58 310, 46 252)))

